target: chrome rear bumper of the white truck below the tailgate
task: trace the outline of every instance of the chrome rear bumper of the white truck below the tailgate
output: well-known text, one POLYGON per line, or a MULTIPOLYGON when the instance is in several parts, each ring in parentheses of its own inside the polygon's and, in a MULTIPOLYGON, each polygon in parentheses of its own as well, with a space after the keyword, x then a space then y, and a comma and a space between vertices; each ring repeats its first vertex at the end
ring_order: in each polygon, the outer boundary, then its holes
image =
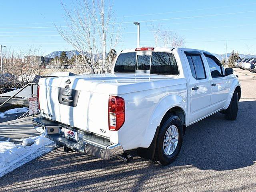
POLYGON ((68 139, 64 136, 63 127, 65 125, 56 121, 34 118, 33 126, 38 132, 44 134, 60 146, 66 146, 72 150, 91 154, 104 160, 120 156, 124 153, 119 143, 112 143, 108 138, 92 133, 78 130, 78 141, 68 139))

